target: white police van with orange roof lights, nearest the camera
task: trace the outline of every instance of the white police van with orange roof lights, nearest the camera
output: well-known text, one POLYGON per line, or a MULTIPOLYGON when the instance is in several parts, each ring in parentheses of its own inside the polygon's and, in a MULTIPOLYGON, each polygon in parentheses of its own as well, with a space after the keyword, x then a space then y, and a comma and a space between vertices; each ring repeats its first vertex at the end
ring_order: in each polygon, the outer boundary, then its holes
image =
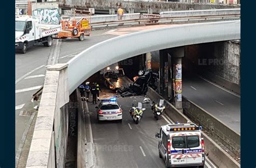
POLYGON ((166 167, 204 167, 204 139, 200 129, 194 123, 161 126, 156 138, 159 138, 159 157, 165 160, 166 167))

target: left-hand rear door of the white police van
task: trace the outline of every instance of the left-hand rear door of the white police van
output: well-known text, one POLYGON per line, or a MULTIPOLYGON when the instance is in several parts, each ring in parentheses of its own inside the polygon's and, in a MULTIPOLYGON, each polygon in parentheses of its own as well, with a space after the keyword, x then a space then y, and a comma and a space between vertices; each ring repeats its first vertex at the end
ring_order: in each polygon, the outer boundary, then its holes
POLYGON ((186 164, 186 136, 175 136, 171 138, 171 164, 180 165, 186 164))

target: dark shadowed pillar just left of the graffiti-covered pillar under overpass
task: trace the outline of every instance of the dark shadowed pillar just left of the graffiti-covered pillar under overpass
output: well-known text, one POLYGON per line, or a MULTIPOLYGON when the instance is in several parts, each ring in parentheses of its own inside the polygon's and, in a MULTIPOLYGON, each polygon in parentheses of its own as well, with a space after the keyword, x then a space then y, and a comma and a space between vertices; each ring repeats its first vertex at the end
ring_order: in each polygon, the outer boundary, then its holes
POLYGON ((160 94, 168 99, 168 52, 160 50, 160 94))

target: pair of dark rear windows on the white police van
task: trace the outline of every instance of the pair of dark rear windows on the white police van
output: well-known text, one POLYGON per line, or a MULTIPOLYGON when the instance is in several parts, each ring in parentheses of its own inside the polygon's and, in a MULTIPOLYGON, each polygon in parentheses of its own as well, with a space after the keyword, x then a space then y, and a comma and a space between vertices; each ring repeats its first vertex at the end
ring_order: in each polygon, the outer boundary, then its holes
POLYGON ((173 148, 195 148, 199 146, 199 136, 176 136, 172 137, 173 148))

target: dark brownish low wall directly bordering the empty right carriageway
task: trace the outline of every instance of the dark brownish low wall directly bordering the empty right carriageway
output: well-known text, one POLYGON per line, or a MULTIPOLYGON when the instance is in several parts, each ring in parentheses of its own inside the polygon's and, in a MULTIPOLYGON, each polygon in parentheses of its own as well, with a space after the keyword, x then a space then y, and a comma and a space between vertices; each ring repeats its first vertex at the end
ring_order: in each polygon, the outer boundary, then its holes
POLYGON ((204 130, 207 130, 209 134, 217 138, 224 146, 236 155, 240 155, 240 134, 233 131, 223 122, 219 121, 186 97, 183 96, 182 100, 188 105, 184 106, 184 114, 188 116, 191 121, 202 125, 204 130))

